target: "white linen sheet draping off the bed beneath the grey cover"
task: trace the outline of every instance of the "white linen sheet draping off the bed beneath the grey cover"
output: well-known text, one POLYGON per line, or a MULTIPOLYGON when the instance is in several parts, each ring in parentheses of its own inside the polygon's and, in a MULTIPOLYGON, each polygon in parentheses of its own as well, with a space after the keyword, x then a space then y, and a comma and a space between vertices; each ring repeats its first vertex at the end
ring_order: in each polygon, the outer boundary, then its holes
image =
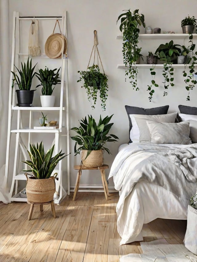
MULTIPOLYGON (((123 163, 126 162, 126 160, 124 161, 123 159, 129 159, 127 161, 133 162, 135 166, 142 159, 145 160, 150 157, 150 155, 155 154, 154 151, 149 150, 148 154, 147 152, 140 152, 140 155, 133 154, 133 156, 128 157, 128 151, 131 150, 131 147, 136 147, 136 145, 137 144, 130 144, 126 147, 122 146, 122 149, 112 164, 109 174, 109 178, 113 176, 115 189, 120 190, 120 198, 116 209, 118 215, 117 229, 119 235, 122 237, 120 244, 143 240, 140 235, 143 224, 149 223, 158 217, 187 219, 188 200, 181 199, 162 186, 152 184, 145 180, 136 182, 133 188, 128 186, 128 183, 130 183, 130 185, 132 184, 132 164, 125 164, 124 166, 123 163), (121 162, 122 165, 120 165, 121 162)), ((165 147, 171 148, 191 146, 197 147, 197 144, 165 145, 165 147)), ((191 192, 191 195, 192 193, 193 192, 191 192)))

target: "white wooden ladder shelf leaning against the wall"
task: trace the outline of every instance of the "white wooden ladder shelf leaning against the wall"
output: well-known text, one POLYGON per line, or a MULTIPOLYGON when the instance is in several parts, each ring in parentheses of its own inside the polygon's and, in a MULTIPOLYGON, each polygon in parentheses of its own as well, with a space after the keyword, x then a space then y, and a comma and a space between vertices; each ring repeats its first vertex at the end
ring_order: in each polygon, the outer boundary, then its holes
MULTIPOLYGON (((21 32, 21 21, 22 20, 62 20, 62 33, 67 38, 66 31, 66 11, 62 17, 20 17, 18 12, 14 12, 13 14, 13 35, 12 35, 12 60, 11 60, 11 71, 14 71, 14 65, 19 65, 20 57, 28 57, 28 54, 22 53, 21 50, 21 42, 22 42, 22 32, 21 32)), ((35 58, 35 57, 32 57, 35 58)), ((36 59, 50 59, 46 57, 46 55, 41 55, 40 57, 36 57, 36 59)), ((62 186, 62 161, 58 163, 58 169, 54 170, 54 172, 58 173, 58 180, 55 180, 56 183, 56 191, 58 192, 58 197, 54 199, 55 204, 59 204, 67 194, 70 194, 70 159, 69 159, 69 104, 68 104, 68 67, 67 67, 67 58, 62 54, 62 57, 58 59, 61 62, 61 88, 60 88, 60 101, 58 107, 18 107, 15 101, 15 88, 11 88, 12 86, 12 73, 10 72, 10 87, 9 87, 9 109, 8 109, 8 134, 7 134, 7 147, 6 147, 6 168, 5 168, 5 182, 8 180, 8 174, 11 173, 11 157, 10 157, 10 140, 11 134, 15 133, 15 151, 14 151, 14 165, 13 165, 13 176, 12 176, 12 184, 10 188, 10 198, 11 201, 27 201, 26 198, 21 197, 20 192, 18 192, 18 181, 26 180, 24 175, 24 171, 18 171, 20 160, 26 160, 27 152, 26 148, 29 149, 29 144, 32 140, 33 133, 39 133, 40 136, 47 134, 54 134, 54 140, 50 141, 55 145, 54 154, 57 154, 61 149, 61 142, 66 143, 66 152, 68 154, 66 156, 67 160, 67 193, 66 190, 62 186), (65 104, 65 105, 63 105, 65 104), (59 112, 59 128, 58 129, 34 129, 32 126, 34 112, 41 111, 58 111, 59 112), (16 128, 12 129, 13 124, 13 113, 17 113, 17 123, 16 128), (26 117, 29 118, 29 126, 28 128, 23 128, 22 126, 22 113, 25 112, 26 117), (65 122, 65 126, 62 126, 62 121, 65 122), (27 134, 28 143, 23 143, 22 134, 27 134), (43 134, 42 134, 43 133, 43 134), (66 138, 66 139, 65 139, 66 138), (64 140, 64 141, 62 141, 64 140), (22 158, 20 158, 22 157, 22 158), (15 185, 15 192, 14 192, 15 185), (14 193, 13 193, 14 192, 14 193), (13 195, 14 194, 14 195, 13 195)), ((17 66, 18 67, 18 66, 17 66)), ((15 85, 16 86, 16 85, 15 85)), ((34 142, 34 143, 37 143, 34 142)), ((39 143, 39 142, 38 142, 39 143)), ((27 165, 24 165, 23 169, 28 169, 27 165)), ((53 172, 53 173, 54 173, 53 172)))

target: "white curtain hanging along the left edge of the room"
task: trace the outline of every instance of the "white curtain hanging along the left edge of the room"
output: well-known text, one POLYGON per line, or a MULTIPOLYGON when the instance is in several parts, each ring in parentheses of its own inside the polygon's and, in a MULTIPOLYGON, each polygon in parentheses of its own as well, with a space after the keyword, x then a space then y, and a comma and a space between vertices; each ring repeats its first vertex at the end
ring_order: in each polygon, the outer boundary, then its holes
POLYGON ((8 0, 0 0, 0 201, 10 202, 5 179, 8 96, 10 79, 8 0))

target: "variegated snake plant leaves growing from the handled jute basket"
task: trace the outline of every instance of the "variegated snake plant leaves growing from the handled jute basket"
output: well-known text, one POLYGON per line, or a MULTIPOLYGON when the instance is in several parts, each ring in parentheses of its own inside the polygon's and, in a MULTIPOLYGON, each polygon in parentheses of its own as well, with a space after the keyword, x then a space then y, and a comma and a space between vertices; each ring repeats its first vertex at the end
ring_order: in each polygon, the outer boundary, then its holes
POLYGON ((53 151, 54 145, 45 153, 42 142, 40 144, 37 143, 36 146, 30 143, 30 151, 27 150, 30 160, 21 161, 30 166, 30 170, 23 171, 32 172, 36 179, 50 178, 58 162, 66 156, 61 150, 58 154, 52 157, 53 151))

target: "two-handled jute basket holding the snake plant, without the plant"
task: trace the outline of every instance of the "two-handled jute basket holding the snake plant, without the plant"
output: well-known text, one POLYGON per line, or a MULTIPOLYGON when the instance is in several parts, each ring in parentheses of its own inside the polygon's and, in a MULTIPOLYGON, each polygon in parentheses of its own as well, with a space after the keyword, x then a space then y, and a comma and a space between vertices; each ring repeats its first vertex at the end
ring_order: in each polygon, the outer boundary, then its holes
POLYGON ((55 193, 55 177, 36 179, 27 177, 27 201, 31 203, 46 203, 53 200, 55 193))

